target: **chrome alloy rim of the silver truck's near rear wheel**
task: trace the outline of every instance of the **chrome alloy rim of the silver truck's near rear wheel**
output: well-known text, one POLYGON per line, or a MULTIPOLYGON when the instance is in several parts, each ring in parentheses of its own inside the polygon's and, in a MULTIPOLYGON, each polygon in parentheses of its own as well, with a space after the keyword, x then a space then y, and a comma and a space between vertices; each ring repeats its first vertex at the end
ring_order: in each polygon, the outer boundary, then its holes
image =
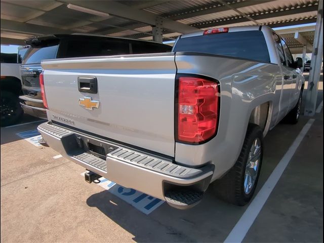
POLYGON ((244 192, 249 194, 255 184, 261 159, 261 140, 256 138, 251 146, 244 176, 244 192))

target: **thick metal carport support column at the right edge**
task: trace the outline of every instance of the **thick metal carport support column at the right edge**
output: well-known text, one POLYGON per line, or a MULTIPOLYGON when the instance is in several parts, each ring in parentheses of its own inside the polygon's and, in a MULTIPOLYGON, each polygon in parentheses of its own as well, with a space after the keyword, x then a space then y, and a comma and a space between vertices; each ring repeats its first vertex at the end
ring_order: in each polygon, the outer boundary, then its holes
POLYGON ((316 109, 318 81, 323 57, 323 1, 318 2, 314 44, 310 63, 304 115, 313 116, 316 109))

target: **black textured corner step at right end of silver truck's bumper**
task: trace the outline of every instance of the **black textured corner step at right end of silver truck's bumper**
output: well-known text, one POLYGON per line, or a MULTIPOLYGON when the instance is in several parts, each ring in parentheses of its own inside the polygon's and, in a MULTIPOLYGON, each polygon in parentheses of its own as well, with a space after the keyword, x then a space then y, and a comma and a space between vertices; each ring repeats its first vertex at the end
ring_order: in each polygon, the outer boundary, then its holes
POLYGON ((188 209, 203 199, 204 192, 194 190, 167 191, 165 199, 169 205, 177 209, 188 209))

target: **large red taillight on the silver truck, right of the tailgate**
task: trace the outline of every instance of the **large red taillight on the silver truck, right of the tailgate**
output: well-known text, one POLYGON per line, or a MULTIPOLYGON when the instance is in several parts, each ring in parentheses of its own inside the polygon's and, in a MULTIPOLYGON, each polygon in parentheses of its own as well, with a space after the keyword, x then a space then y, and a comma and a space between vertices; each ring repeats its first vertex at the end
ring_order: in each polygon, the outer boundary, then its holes
POLYGON ((217 132, 220 90, 216 80, 196 76, 178 78, 179 142, 200 144, 217 132))

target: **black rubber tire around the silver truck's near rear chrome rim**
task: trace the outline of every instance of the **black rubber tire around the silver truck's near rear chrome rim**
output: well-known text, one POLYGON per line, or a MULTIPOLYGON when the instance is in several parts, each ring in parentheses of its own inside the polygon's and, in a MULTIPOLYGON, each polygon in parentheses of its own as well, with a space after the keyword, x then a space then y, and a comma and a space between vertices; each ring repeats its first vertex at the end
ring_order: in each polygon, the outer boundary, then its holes
MULTIPOLYGON (((261 128, 255 124, 249 124, 247 134, 242 146, 241 152, 236 160, 235 165, 219 180, 216 180, 212 187, 215 190, 217 197, 227 201, 230 204, 244 206, 251 200, 261 170, 263 157, 263 132, 261 128), (259 139, 259 140, 257 140, 259 139), (255 141, 260 141, 260 157, 256 170, 256 179, 254 185, 247 193, 245 191, 245 172, 250 156, 250 150, 255 141)), ((251 169, 251 168, 250 168, 251 169)))

